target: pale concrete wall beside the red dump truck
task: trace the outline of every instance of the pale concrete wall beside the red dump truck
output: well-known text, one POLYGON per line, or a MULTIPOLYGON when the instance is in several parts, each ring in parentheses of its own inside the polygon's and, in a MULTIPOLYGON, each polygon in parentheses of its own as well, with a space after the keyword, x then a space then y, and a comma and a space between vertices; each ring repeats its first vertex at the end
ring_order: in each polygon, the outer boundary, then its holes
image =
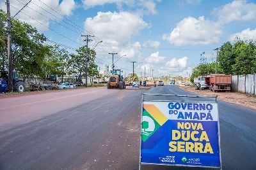
POLYGON ((232 91, 256 94, 256 74, 232 76, 232 91))

